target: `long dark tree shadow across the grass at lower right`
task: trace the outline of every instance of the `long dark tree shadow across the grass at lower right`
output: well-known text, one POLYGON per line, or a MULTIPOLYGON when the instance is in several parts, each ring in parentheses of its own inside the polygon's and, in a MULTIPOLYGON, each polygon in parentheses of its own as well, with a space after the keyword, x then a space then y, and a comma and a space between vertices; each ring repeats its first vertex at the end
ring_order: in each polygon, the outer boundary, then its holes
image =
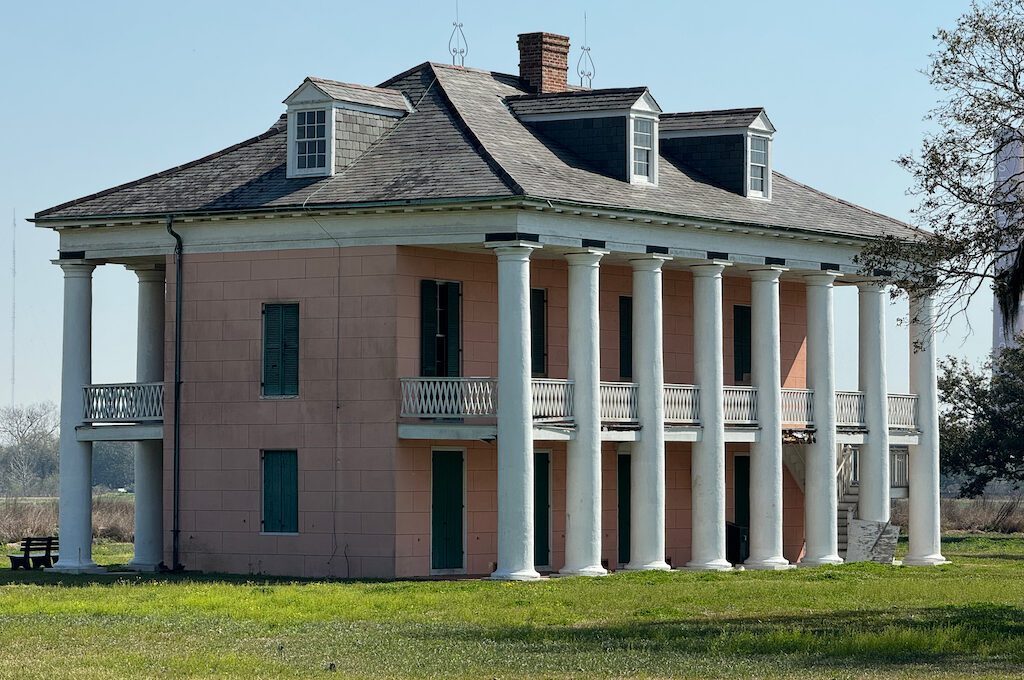
POLYGON ((671 671, 672 660, 685 657, 784 661, 788 667, 850 671, 928 666, 965 673, 977 672, 979 665, 1019 671, 1024 662, 1024 609, 988 604, 598 627, 431 626, 406 634, 453 647, 497 646, 579 657, 640 654, 655 666, 664 661, 663 671, 671 671))

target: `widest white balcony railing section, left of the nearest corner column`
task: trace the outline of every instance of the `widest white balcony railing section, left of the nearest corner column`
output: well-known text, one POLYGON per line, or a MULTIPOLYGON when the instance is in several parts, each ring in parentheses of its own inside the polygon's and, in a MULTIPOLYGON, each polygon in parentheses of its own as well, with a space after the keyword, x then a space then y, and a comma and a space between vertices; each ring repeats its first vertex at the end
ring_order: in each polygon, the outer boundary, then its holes
POLYGON ((497 378, 401 379, 403 418, 483 418, 497 413, 497 378))

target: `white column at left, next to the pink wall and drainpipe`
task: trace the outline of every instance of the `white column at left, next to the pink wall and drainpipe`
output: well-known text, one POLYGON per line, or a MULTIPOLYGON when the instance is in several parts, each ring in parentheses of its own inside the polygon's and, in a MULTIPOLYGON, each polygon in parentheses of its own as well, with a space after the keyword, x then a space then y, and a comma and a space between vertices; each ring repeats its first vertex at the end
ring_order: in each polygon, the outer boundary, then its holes
MULTIPOLYGON (((135 381, 164 381, 164 267, 133 267, 138 277, 135 381)), ((156 571, 164 561, 164 441, 135 442, 135 555, 129 568, 156 571)))

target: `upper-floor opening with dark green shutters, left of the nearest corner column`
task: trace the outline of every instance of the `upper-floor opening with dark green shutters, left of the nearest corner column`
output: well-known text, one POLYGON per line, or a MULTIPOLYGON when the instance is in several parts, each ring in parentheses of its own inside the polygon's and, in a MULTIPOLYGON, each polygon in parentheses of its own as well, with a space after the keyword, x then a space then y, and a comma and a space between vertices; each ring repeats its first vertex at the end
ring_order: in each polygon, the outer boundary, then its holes
POLYGON ((461 374, 462 285, 420 282, 420 375, 454 378, 461 374))

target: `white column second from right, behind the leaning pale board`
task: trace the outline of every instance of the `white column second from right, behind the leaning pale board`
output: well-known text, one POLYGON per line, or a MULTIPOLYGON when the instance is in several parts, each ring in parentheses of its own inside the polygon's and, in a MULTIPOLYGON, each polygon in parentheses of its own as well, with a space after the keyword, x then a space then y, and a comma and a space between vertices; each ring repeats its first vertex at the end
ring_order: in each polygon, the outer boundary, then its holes
POLYGON ((889 405, 886 392, 886 289, 857 285, 860 391, 864 393, 867 433, 860 447, 860 519, 889 521, 889 405))

